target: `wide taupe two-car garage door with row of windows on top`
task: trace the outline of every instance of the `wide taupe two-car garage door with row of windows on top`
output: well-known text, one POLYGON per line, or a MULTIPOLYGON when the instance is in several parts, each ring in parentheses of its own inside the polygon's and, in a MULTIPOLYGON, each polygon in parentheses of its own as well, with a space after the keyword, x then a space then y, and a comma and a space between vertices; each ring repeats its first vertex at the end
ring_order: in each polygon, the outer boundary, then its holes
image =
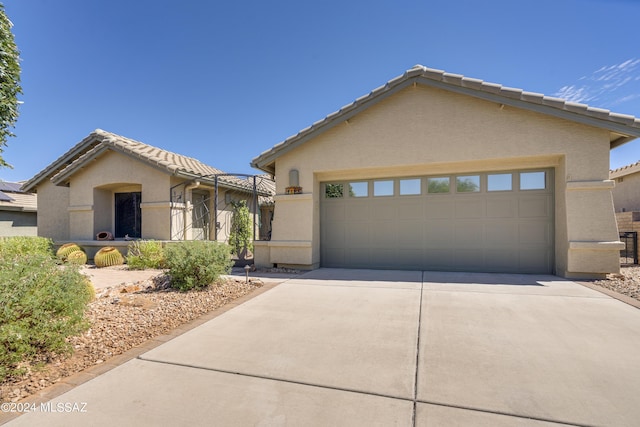
POLYGON ((551 273, 553 171, 324 182, 324 267, 551 273))

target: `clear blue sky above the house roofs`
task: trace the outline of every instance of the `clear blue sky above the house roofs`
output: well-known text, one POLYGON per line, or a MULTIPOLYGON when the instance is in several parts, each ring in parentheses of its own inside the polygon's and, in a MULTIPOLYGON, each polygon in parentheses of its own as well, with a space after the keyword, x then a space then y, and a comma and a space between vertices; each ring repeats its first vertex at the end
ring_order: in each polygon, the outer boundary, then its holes
MULTIPOLYGON (((415 64, 640 117, 638 0, 5 0, 29 179, 96 128, 235 173, 415 64)), ((640 141, 612 168, 640 160, 640 141)))

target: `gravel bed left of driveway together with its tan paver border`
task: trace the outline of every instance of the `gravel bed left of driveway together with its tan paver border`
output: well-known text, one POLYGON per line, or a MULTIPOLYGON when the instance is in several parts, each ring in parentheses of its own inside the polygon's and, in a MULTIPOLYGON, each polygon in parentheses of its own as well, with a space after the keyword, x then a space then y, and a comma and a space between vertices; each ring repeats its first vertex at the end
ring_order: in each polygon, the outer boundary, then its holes
MULTIPOLYGON (((70 339, 75 347, 74 355, 55 357, 47 363, 46 371, 34 370, 23 379, 0 385, 0 402, 47 402, 279 283, 264 284, 253 279, 246 284, 244 280, 232 279, 203 291, 178 292, 167 288, 167 278, 160 276, 100 290, 87 313, 92 321, 91 329, 70 339), (152 312, 154 315, 150 315, 152 312), (161 320, 161 324, 149 331, 135 327, 145 320, 145 314, 151 322, 161 320), (123 322, 123 318, 137 322, 123 322), (125 323, 133 327, 123 328, 125 323)), ((0 425, 18 415, 0 413, 0 425)))

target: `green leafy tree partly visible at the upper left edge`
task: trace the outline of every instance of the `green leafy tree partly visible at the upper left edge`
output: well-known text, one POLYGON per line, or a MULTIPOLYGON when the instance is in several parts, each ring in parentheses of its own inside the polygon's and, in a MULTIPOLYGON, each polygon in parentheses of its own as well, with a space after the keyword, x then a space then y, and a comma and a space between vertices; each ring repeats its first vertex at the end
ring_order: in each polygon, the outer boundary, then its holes
POLYGON ((13 23, 0 3, 0 166, 11 167, 2 158, 7 139, 15 136, 11 128, 18 119, 18 94, 20 86, 20 52, 11 32, 13 23))

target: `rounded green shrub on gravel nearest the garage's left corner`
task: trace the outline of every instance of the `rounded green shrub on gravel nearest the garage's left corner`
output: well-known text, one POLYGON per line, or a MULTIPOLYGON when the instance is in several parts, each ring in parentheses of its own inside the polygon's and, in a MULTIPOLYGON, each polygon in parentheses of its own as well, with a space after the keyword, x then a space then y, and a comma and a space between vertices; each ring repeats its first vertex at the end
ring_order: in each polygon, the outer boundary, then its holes
POLYGON ((171 287, 186 291, 205 288, 231 271, 231 248, 219 242, 192 240, 165 248, 171 287))

